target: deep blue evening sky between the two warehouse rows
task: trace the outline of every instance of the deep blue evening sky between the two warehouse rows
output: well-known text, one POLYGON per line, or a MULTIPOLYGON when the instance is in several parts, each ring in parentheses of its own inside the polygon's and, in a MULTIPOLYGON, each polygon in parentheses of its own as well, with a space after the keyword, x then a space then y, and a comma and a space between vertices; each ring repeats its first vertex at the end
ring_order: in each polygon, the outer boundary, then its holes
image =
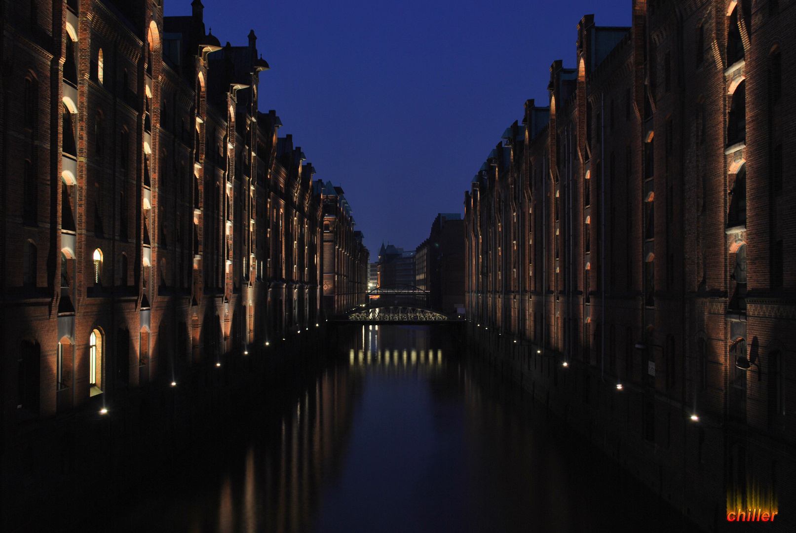
MULTIPOLYGON (((414 249, 464 191, 525 99, 547 105, 549 67, 574 67, 576 25, 630 25, 630 0, 202 0, 224 45, 248 43, 260 111, 275 109, 316 178, 345 190, 374 259, 414 249)), ((191 13, 165 0, 166 16, 191 13)))

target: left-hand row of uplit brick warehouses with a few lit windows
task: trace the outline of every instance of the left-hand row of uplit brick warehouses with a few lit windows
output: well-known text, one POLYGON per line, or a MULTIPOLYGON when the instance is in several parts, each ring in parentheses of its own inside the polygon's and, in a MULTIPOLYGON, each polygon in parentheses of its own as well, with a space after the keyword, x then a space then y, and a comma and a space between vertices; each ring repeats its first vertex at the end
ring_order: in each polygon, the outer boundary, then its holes
POLYGON ((253 31, 221 46, 199 0, 169 18, 159 0, 2 6, 0 523, 13 525, 14 504, 46 493, 14 480, 36 487, 48 455, 68 470, 80 416, 364 302, 368 252, 349 210, 331 242, 355 282, 323 307, 322 182, 258 111, 268 65, 253 31))

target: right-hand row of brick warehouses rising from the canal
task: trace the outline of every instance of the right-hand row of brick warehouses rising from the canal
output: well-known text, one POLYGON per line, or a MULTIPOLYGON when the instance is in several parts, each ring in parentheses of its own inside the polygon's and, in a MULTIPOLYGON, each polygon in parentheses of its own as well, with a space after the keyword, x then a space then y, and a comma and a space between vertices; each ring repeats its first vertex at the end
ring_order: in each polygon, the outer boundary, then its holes
POLYGON ((790 531, 796 6, 636 0, 632 21, 584 17, 576 68, 552 63, 548 105, 473 178, 470 332, 701 527, 774 500, 790 531))

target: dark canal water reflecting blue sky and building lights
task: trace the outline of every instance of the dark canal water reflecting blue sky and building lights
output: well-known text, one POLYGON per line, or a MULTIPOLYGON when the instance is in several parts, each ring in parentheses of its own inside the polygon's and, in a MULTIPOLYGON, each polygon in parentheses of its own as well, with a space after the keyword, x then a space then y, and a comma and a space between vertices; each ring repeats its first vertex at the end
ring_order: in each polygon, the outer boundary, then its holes
POLYGON ((354 348, 245 430, 175 464, 113 528, 688 531, 443 331, 341 333, 354 348))

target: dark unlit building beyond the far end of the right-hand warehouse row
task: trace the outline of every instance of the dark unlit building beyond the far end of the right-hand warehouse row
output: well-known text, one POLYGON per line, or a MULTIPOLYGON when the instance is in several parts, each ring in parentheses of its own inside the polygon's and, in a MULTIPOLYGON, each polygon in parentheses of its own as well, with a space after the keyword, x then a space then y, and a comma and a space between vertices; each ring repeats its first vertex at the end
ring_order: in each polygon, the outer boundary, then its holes
POLYGON ((429 293, 429 306, 441 313, 464 313, 464 220, 439 213, 431 235, 417 247, 416 286, 429 293))

